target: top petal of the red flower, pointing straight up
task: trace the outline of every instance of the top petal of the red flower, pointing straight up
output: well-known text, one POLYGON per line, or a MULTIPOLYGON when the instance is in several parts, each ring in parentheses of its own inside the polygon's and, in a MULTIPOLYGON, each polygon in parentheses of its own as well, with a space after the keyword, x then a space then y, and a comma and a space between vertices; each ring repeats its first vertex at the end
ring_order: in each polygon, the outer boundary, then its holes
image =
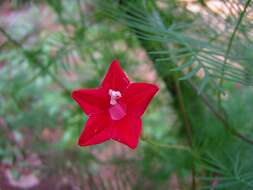
POLYGON ((128 77, 120 67, 119 61, 112 61, 110 68, 102 82, 102 87, 106 90, 112 89, 123 93, 128 85, 128 77))

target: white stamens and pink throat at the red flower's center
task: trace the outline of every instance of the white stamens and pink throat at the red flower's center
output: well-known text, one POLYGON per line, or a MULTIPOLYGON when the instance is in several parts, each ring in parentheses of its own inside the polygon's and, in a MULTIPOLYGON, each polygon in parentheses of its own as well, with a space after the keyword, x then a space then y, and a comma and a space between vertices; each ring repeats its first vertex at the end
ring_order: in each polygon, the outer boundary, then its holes
POLYGON ((126 105, 117 100, 122 95, 119 91, 112 89, 109 90, 109 95, 111 96, 109 114, 112 120, 120 120, 126 115, 126 105))

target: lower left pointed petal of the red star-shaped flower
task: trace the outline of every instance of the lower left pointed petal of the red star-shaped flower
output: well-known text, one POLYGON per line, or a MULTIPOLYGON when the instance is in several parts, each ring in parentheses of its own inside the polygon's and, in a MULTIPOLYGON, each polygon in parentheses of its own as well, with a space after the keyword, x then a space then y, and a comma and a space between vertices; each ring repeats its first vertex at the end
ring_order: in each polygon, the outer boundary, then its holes
POLYGON ((111 137, 112 121, 108 114, 93 115, 88 118, 85 128, 79 137, 80 146, 100 144, 111 137))

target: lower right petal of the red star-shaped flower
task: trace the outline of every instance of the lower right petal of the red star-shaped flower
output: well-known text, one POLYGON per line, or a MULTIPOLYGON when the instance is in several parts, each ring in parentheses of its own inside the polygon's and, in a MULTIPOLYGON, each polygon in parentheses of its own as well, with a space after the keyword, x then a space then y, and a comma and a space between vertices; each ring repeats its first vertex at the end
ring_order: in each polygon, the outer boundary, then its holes
POLYGON ((112 139, 135 149, 141 134, 141 119, 134 116, 125 116, 115 121, 112 127, 112 139))

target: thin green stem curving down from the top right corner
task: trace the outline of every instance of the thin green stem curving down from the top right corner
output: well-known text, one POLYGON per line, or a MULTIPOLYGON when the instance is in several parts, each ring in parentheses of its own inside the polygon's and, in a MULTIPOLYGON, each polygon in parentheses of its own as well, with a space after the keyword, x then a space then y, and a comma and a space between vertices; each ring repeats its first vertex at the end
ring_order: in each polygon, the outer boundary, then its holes
MULTIPOLYGON (((220 87, 222 88, 223 86, 223 83, 224 83, 224 71, 225 71, 225 66, 226 64, 228 63, 228 56, 230 54, 230 51, 231 51, 231 48, 232 48, 232 44, 233 44, 233 41, 234 41, 234 38, 235 38, 235 35, 236 35, 236 32, 238 31, 239 29, 239 26, 243 20, 243 17, 245 16, 245 13, 246 13, 246 10, 248 8, 248 6, 250 5, 251 3, 251 0, 248 0, 246 3, 245 3, 245 6, 244 6, 244 9, 243 11, 240 13, 240 17, 236 23, 236 26, 233 30, 233 33, 229 39, 229 42, 228 42, 228 46, 227 46, 227 50, 226 50, 226 53, 225 53, 225 59, 224 59, 224 64, 223 64, 223 68, 222 68, 222 76, 221 76, 221 79, 220 79, 220 87)), ((221 106, 221 92, 218 91, 218 104, 221 106)))

